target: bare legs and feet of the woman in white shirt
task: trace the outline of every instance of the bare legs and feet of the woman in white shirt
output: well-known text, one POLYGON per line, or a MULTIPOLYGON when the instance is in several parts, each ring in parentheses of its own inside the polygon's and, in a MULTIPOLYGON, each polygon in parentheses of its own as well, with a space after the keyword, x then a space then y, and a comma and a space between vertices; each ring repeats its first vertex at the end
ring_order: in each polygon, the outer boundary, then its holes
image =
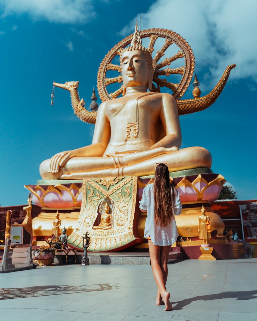
POLYGON ((153 245, 151 240, 149 240, 148 244, 153 274, 158 286, 156 304, 159 303, 157 305, 160 305, 162 298, 165 304, 165 311, 169 311, 172 309, 172 304, 170 303, 170 293, 166 291, 165 284, 168 275, 167 261, 171 246, 153 245))

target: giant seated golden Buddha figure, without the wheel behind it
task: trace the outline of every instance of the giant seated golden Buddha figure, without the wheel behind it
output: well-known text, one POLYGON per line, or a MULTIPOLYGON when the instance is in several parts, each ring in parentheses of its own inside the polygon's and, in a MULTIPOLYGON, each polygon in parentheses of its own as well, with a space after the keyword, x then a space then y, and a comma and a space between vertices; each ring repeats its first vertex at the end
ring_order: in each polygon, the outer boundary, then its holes
MULTIPOLYGON (((205 148, 179 150, 182 135, 177 102, 171 94, 153 91, 157 69, 152 51, 142 46, 136 25, 130 47, 119 52, 123 96, 99 106, 91 145, 59 152, 41 163, 43 179, 146 176, 154 174, 157 162, 166 162, 170 172, 211 168, 212 158, 205 148)), ((78 82, 54 85, 72 95, 78 82)), ((77 91, 74 95, 79 97, 77 91)), ((83 99, 77 107, 81 104, 83 107, 83 99)))

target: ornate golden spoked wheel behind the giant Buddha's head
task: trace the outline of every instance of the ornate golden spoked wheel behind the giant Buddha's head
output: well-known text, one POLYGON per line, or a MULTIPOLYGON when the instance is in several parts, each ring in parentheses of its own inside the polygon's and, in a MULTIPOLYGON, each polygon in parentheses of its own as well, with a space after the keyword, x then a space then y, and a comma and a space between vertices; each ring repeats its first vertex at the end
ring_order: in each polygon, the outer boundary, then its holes
MULTIPOLYGON (((161 91, 160 87, 167 87, 173 91, 173 96, 176 100, 179 100, 187 90, 195 67, 194 55, 190 45, 185 39, 183 39, 179 34, 165 29, 148 29, 139 32, 141 39, 149 38, 148 50, 151 54, 154 51, 155 41, 157 38, 164 38, 164 45, 160 50, 156 52, 153 56, 153 64, 155 65, 155 73, 153 77, 153 91, 161 91), (179 48, 178 52, 171 56, 166 57, 162 62, 158 63, 160 58, 165 55, 165 51, 170 45, 175 44, 179 48), (184 64, 179 68, 164 68, 170 65, 172 62, 179 58, 184 58, 184 64), (164 69, 163 69, 164 68, 164 69), (172 74, 181 74, 182 78, 179 83, 169 82, 166 79, 159 78, 159 76, 164 75, 169 77, 172 74)), ((115 45, 108 54, 102 60, 97 74, 97 89, 100 99, 102 101, 115 99, 120 96, 123 91, 122 76, 117 75, 117 77, 106 78, 106 72, 108 70, 116 70, 121 73, 121 66, 113 64, 113 60, 117 55, 119 56, 120 49, 127 47, 133 38, 133 33, 121 40, 117 45, 115 45), (107 91, 107 86, 113 83, 120 83, 121 87, 116 91, 109 93, 107 91)))

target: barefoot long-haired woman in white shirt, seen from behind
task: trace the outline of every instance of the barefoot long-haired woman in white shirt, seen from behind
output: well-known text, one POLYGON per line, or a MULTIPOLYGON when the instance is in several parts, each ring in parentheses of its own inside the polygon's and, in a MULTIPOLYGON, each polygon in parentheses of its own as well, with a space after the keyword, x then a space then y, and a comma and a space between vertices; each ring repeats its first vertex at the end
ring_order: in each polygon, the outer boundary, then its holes
POLYGON ((149 241, 149 252, 155 282, 158 286, 156 305, 165 304, 165 311, 172 309, 170 293, 166 291, 168 256, 171 245, 178 238, 174 214, 182 210, 179 193, 170 184, 170 175, 165 163, 155 169, 155 180, 148 184, 139 202, 142 212, 147 212, 144 237, 149 241))

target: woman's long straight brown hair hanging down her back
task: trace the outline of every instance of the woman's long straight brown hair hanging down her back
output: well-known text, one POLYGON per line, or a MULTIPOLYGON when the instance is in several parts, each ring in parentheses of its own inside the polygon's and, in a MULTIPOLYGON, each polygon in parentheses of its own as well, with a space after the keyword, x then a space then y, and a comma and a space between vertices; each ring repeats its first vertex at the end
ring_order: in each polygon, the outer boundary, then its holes
POLYGON ((167 226, 174 219, 175 193, 176 189, 170 183, 168 167, 163 163, 158 164, 155 169, 154 181, 155 222, 157 225, 167 226))

